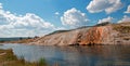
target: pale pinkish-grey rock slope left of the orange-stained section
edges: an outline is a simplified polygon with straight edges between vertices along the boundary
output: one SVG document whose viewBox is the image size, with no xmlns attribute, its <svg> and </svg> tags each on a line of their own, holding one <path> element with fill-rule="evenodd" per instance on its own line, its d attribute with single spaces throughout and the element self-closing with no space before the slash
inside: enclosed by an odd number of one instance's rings
<svg viewBox="0 0 130 66">
<path fill-rule="evenodd" d="M 32 44 L 39 45 L 73 45 L 79 44 L 80 37 L 84 37 L 89 28 L 76 29 L 67 32 L 54 34 L 38 38 Z"/>
</svg>

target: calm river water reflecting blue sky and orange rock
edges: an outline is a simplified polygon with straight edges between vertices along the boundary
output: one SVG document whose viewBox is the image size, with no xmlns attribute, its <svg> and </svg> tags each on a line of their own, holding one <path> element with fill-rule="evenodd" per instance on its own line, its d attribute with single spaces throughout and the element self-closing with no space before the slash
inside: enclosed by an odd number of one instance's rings
<svg viewBox="0 0 130 66">
<path fill-rule="evenodd" d="M 37 62 L 41 57 L 52 66 L 118 66 L 130 65 L 130 45 L 94 47 L 39 47 L 25 44 L 4 44 L 0 49 L 13 49 L 17 57 Z"/>
</svg>

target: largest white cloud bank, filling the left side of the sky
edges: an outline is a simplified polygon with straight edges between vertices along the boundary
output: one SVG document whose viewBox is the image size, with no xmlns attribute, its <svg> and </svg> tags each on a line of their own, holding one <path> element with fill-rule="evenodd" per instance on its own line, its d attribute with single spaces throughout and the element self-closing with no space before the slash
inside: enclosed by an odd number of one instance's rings
<svg viewBox="0 0 130 66">
<path fill-rule="evenodd" d="M 2 8 L 2 3 L 0 3 L 0 36 L 37 36 L 54 29 L 53 24 L 46 22 L 34 13 L 17 15 L 10 11 L 4 11 Z"/>
</svg>

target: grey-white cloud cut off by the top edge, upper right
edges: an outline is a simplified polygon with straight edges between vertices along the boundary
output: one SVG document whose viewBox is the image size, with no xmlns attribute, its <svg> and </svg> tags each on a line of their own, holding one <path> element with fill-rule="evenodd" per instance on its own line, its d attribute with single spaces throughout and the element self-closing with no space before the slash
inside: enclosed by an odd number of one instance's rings
<svg viewBox="0 0 130 66">
<path fill-rule="evenodd" d="M 121 9 L 122 3 L 120 0 L 92 0 L 87 10 L 90 13 L 99 13 L 105 11 L 107 14 L 116 12 Z"/>
</svg>

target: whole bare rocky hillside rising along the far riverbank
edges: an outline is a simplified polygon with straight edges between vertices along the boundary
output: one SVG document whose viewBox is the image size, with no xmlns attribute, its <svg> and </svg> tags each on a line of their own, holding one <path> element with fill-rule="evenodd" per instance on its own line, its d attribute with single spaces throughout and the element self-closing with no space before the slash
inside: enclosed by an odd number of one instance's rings
<svg viewBox="0 0 130 66">
<path fill-rule="evenodd" d="M 130 44 L 130 23 L 61 30 L 31 40 L 38 45 Z"/>
</svg>

